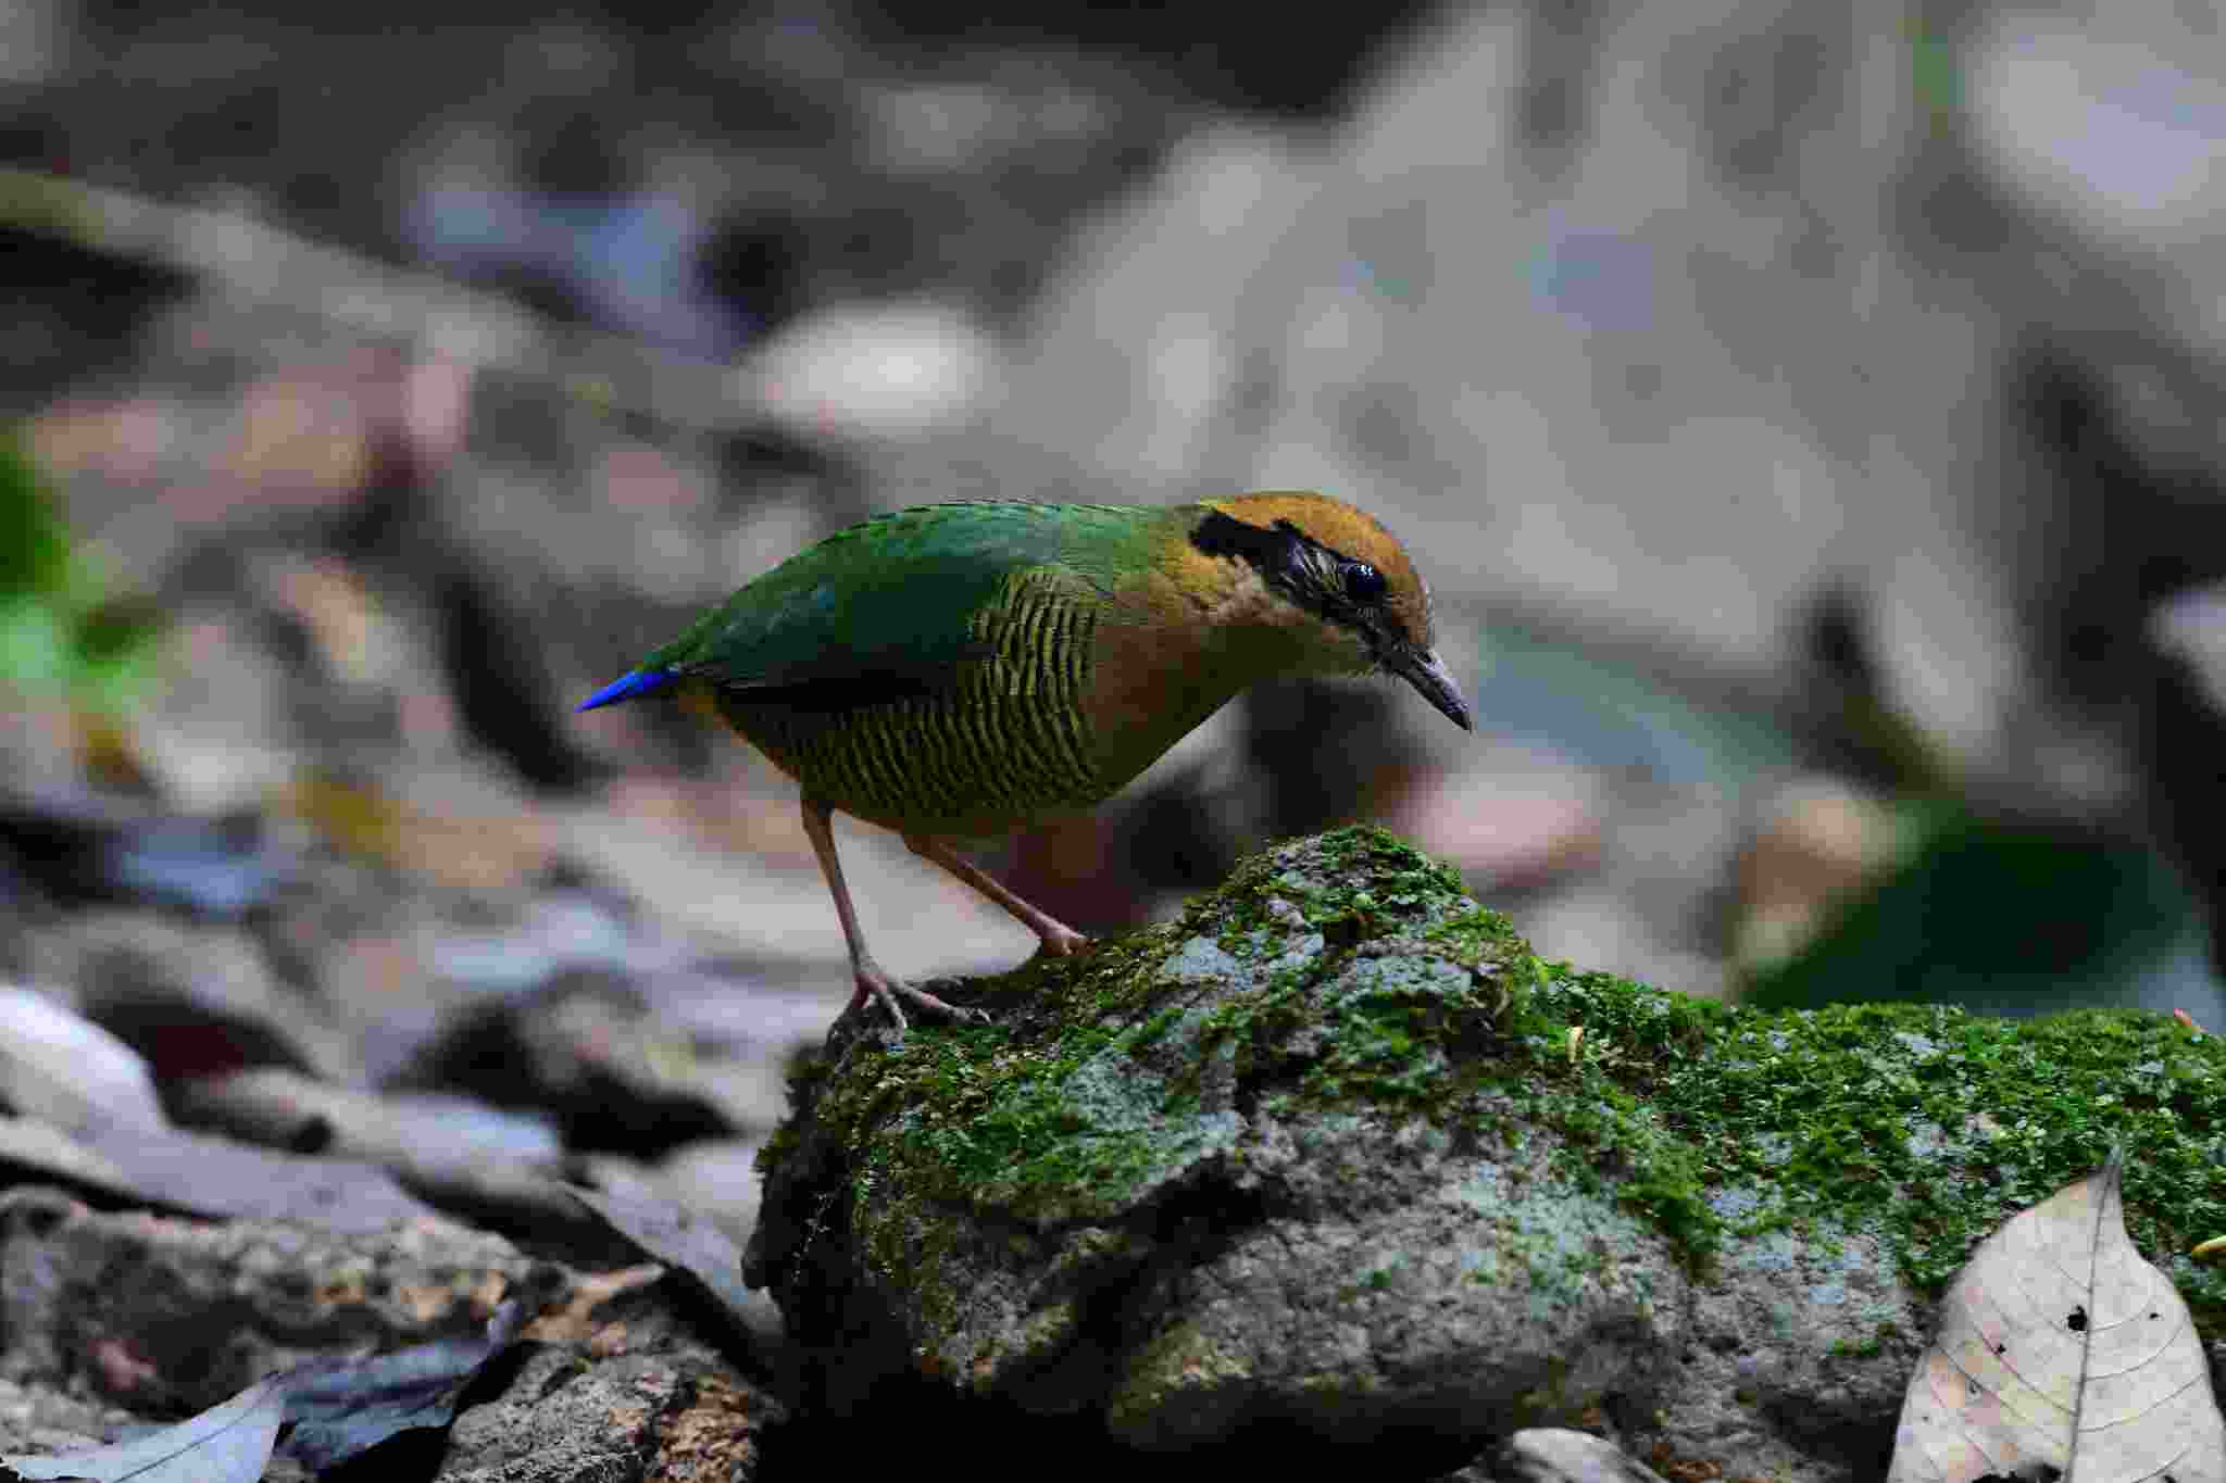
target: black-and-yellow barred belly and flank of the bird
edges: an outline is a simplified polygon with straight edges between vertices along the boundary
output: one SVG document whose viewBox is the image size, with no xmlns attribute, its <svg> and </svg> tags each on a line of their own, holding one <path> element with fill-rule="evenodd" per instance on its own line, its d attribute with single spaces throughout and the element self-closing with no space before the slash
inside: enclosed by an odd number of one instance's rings
<svg viewBox="0 0 2226 1483">
<path fill-rule="evenodd" d="M 728 723 L 806 796 L 917 834 L 997 834 L 1106 798 L 1082 711 L 1093 603 L 1046 574 L 1008 583 L 973 623 L 979 658 L 948 683 L 812 707 L 719 691 Z"/>
</svg>

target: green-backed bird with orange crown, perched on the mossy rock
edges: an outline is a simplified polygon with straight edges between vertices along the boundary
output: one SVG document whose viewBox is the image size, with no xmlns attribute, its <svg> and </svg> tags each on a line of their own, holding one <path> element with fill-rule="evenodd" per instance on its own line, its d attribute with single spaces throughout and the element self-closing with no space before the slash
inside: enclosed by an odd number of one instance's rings
<svg viewBox="0 0 2226 1483">
<path fill-rule="evenodd" d="M 866 949 L 833 814 L 893 829 L 1068 956 L 1080 932 L 957 854 L 1091 809 L 1271 676 L 1391 674 L 1465 731 L 1429 585 L 1373 516 L 1313 491 L 1189 505 L 915 505 L 826 536 L 579 703 L 695 694 L 801 792 L 855 992 L 979 1021 Z M 902 1001 L 902 1005 L 899 1005 Z"/>
</svg>

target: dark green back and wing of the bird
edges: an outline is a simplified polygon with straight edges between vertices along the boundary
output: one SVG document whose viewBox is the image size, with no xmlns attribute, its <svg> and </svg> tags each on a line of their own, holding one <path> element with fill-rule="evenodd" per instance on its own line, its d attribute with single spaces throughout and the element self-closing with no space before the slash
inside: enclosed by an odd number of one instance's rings
<svg viewBox="0 0 2226 1483">
<path fill-rule="evenodd" d="M 1062 567 L 1113 591 L 1175 511 L 1126 505 L 922 505 L 797 551 L 641 669 L 857 705 L 948 685 L 984 656 L 977 616 L 1006 578 Z"/>
</svg>

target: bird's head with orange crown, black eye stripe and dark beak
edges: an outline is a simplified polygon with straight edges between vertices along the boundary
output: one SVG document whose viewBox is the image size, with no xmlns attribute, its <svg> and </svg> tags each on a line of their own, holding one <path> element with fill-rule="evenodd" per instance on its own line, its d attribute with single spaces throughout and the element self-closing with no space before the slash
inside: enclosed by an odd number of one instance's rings
<svg viewBox="0 0 2226 1483">
<path fill-rule="evenodd" d="M 1429 585 L 1391 531 L 1327 494 L 1240 494 L 1206 500 L 1191 545 L 1260 578 L 1249 614 L 1300 647 L 1313 674 L 1389 671 L 1465 731 L 1469 703 L 1436 654 Z"/>
</svg>

